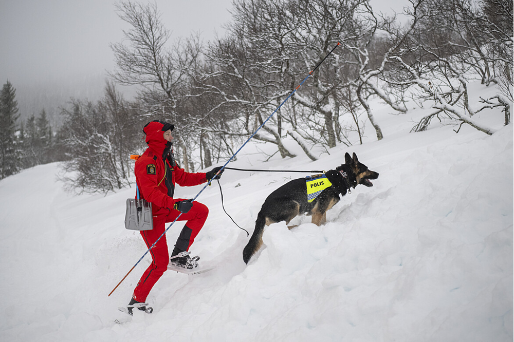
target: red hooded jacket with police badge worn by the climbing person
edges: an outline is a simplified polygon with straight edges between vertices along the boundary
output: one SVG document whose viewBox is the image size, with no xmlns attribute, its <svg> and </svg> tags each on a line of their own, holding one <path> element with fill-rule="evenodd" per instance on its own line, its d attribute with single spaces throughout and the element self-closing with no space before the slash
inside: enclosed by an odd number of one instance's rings
<svg viewBox="0 0 514 342">
<path fill-rule="evenodd" d="M 171 165 L 166 158 L 168 153 L 164 153 L 171 144 L 163 137 L 163 126 L 162 123 L 153 121 L 143 128 L 148 148 L 136 160 L 134 169 L 139 195 L 152 203 L 154 214 L 160 211 L 168 214 L 166 208 L 173 210 L 173 204 L 177 202 L 173 199 L 176 183 L 180 186 L 193 186 L 207 181 L 205 173 L 187 173 L 182 168 Z"/>
</svg>

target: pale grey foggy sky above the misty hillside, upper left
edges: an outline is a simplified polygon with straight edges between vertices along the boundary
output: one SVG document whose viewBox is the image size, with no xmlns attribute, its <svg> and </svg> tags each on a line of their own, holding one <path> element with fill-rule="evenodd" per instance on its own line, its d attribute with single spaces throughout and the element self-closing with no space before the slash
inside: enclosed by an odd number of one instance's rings
<svg viewBox="0 0 514 342">
<path fill-rule="evenodd" d="M 139 1 L 148 3 L 148 0 Z M 153 2 L 153 0 L 152 0 Z M 0 0 L 0 83 L 23 86 L 105 73 L 114 68 L 109 43 L 128 26 L 112 0 Z M 171 40 L 200 31 L 223 35 L 231 0 L 157 0 Z"/>
</svg>

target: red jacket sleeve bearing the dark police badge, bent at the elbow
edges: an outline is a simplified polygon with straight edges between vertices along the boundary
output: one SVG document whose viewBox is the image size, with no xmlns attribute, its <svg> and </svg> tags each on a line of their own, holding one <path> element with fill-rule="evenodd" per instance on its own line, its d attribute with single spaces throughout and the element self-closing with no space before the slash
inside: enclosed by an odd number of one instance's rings
<svg viewBox="0 0 514 342">
<path fill-rule="evenodd" d="M 152 166 L 155 167 L 155 172 L 152 172 Z M 136 161 L 134 172 L 136 174 L 139 192 L 145 200 L 160 207 L 173 208 L 173 204 L 175 204 L 176 200 L 168 196 L 158 187 L 159 182 L 164 177 L 163 165 L 151 158 L 140 157 Z"/>
</svg>

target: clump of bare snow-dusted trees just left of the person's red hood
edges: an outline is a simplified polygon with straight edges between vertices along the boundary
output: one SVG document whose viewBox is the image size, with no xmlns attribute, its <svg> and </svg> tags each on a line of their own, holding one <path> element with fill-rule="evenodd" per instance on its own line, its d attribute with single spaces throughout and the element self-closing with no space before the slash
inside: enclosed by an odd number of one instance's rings
<svg viewBox="0 0 514 342">
<path fill-rule="evenodd" d="M 61 164 L 65 187 L 79 193 L 107 193 L 129 186 L 131 154 L 142 151 L 137 113 L 112 84 L 97 104 L 72 100 L 63 108 L 59 134 L 68 159 Z"/>
</svg>

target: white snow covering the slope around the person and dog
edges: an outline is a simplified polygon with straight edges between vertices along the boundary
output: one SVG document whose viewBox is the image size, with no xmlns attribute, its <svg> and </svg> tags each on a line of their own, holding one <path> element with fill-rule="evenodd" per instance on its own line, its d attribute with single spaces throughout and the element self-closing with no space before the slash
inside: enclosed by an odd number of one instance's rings
<svg viewBox="0 0 514 342">
<path fill-rule="evenodd" d="M 512 124 L 483 111 L 479 120 L 499 129 L 491 137 L 467 126 L 409 134 L 428 110 L 384 109 L 376 115 L 382 141 L 369 126 L 365 144 L 316 162 L 242 153 L 230 166 L 329 169 L 355 152 L 380 177 L 343 197 L 324 226 L 309 217 L 290 231 L 269 226 L 248 265 L 246 233 L 223 212 L 213 183 L 198 198 L 210 214 L 191 250 L 216 269 L 164 273 L 148 298 L 152 315 L 117 311 L 148 255 L 107 297 L 146 251 L 123 227 L 134 189 L 71 196 L 56 181 L 57 164 L 2 180 L 0 340 L 512 341 Z M 227 170 L 225 207 L 251 234 L 266 196 L 297 177 Z M 192 198 L 200 189 L 177 193 Z M 168 232 L 170 245 L 182 224 Z"/>
</svg>

